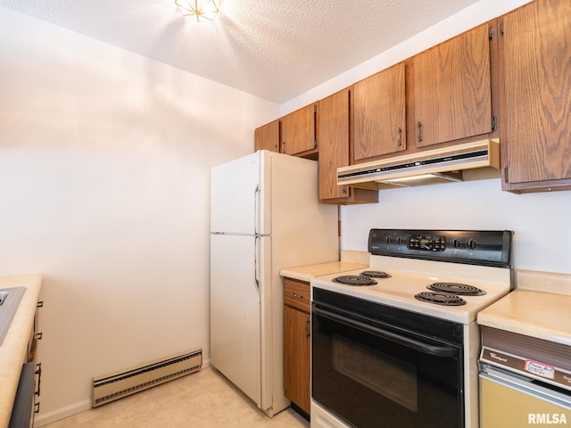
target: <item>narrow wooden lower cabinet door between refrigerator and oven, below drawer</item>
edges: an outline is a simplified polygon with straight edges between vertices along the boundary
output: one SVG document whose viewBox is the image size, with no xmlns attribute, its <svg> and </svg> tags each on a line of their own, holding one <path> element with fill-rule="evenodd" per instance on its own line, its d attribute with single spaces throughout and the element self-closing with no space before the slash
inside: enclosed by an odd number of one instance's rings
<svg viewBox="0 0 571 428">
<path fill-rule="evenodd" d="M 284 389 L 305 413 L 310 414 L 310 316 L 284 307 Z"/>
</svg>

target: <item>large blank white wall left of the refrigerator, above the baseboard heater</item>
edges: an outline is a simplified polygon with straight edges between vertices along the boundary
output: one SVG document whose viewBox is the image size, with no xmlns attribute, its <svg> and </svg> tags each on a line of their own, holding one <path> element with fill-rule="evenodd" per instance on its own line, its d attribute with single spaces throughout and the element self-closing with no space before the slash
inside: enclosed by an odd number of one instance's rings
<svg viewBox="0 0 571 428">
<path fill-rule="evenodd" d="M 40 424 L 209 358 L 209 174 L 279 106 L 0 8 L 0 275 L 45 274 Z"/>
</svg>

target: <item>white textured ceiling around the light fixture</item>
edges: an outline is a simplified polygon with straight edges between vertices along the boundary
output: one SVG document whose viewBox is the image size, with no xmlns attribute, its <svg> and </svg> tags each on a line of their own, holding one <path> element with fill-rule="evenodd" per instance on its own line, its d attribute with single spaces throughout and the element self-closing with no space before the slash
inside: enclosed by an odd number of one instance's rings
<svg viewBox="0 0 571 428">
<path fill-rule="evenodd" d="M 477 0 L 220 0 L 216 21 L 174 0 L 0 0 L 0 6 L 285 103 Z"/>
</svg>

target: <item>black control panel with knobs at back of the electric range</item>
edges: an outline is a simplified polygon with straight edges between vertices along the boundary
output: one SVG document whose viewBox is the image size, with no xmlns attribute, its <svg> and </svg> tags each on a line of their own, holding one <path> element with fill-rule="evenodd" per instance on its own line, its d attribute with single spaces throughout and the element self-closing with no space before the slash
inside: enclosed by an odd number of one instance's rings
<svg viewBox="0 0 571 428">
<path fill-rule="evenodd" d="M 371 229 L 368 251 L 374 255 L 508 268 L 512 235 L 508 230 Z"/>
</svg>

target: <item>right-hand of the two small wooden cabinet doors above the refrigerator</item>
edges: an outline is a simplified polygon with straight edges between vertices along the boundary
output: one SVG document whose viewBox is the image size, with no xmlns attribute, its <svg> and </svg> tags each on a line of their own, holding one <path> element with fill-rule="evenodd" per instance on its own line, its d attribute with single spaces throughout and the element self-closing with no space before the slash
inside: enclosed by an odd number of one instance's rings
<svg viewBox="0 0 571 428">
<path fill-rule="evenodd" d="M 310 104 L 281 118 L 282 149 L 285 154 L 299 154 L 317 147 L 315 116 L 317 106 Z"/>
</svg>

